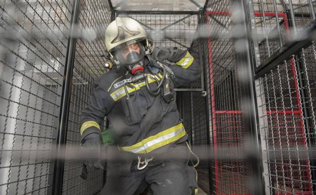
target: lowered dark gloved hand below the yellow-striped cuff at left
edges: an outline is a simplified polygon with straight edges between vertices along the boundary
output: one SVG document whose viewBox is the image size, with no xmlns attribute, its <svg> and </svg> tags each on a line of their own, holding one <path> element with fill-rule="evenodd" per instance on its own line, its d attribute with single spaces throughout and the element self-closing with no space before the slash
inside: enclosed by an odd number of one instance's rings
<svg viewBox="0 0 316 195">
<path fill-rule="evenodd" d="M 95 169 L 104 169 L 101 163 L 102 146 L 102 137 L 98 133 L 88 134 L 82 139 L 80 154 L 86 165 Z"/>
</svg>

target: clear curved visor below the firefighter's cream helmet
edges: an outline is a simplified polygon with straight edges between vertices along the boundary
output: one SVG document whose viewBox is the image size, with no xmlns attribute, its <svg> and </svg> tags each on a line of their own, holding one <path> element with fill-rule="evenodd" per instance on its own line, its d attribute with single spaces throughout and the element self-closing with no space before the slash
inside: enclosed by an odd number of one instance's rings
<svg viewBox="0 0 316 195">
<path fill-rule="evenodd" d="M 122 64 L 132 64 L 142 60 L 145 49 L 142 44 L 133 43 L 115 51 L 116 57 Z"/>
</svg>

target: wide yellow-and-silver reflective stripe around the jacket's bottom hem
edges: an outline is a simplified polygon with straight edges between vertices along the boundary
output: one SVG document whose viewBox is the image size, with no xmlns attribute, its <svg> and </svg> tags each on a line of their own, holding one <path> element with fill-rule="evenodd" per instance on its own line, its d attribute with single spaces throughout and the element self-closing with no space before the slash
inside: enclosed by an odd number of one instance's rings
<svg viewBox="0 0 316 195">
<path fill-rule="evenodd" d="M 121 149 L 133 153 L 148 153 L 161 146 L 177 141 L 185 135 L 186 131 L 184 130 L 182 123 L 180 123 L 179 125 L 150 136 L 134 145 L 121 147 Z"/>
</svg>

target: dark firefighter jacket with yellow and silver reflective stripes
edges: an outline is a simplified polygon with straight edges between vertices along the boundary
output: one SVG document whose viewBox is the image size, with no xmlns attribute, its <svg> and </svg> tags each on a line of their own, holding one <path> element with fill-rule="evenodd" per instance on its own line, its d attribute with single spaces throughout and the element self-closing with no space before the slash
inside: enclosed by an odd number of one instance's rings
<svg viewBox="0 0 316 195">
<path fill-rule="evenodd" d="M 175 65 L 169 68 L 175 76 L 174 87 L 188 85 L 200 76 L 200 65 L 188 51 L 179 49 L 172 58 L 170 61 Z M 124 151 L 159 154 L 187 140 L 175 100 L 167 103 L 161 94 L 151 96 L 144 81 L 131 84 L 133 88 L 126 86 L 130 95 L 127 99 L 120 82 L 130 76 L 111 69 L 100 77 L 89 105 L 81 113 L 82 137 L 100 131 L 99 124 L 107 116 L 109 129 L 114 131 L 118 147 Z M 150 77 L 149 84 L 151 88 L 157 86 Z M 174 91 L 173 95 L 175 97 Z"/>
</svg>

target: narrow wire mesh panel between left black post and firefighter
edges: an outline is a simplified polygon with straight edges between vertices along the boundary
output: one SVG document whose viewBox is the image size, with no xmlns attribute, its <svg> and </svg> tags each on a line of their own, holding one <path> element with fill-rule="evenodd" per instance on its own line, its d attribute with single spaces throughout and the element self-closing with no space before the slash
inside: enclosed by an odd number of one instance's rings
<svg viewBox="0 0 316 195">
<path fill-rule="evenodd" d="M 106 59 L 101 56 L 106 51 L 104 32 L 110 22 L 111 7 L 108 1 L 81 2 L 66 153 L 71 154 L 80 148 L 80 113 L 88 105 L 94 82 L 106 72 Z M 101 125 L 103 130 L 105 125 Z M 97 194 L 102 189 L 105 182 L 103 170 L 88 170 L 88 179 L 83 180 L 80 177 L 82 165 L 78 161 L 65 162 L 63 194 Z"/>
</svg>

